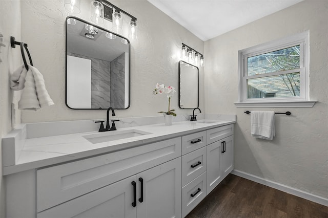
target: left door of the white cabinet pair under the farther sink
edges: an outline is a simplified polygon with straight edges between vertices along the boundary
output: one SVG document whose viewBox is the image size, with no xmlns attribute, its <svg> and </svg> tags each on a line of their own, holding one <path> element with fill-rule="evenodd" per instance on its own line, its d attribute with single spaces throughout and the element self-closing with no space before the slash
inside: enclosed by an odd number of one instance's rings
<svg viewBox="0 0 328 218">
<path fill-rule="evenodd" d="M 216 141 L 207 146 L 207 194 L 222 181 L 220 168 L 222 149 L 221 141 Z"/>
</svg>

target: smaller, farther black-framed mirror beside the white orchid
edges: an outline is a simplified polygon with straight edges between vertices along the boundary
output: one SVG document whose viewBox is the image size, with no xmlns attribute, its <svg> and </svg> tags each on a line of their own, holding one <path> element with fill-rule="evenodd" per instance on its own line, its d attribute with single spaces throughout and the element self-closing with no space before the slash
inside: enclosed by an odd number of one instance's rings
<svg viewBox="0 0 328 218">
<path fill-rule="evenodd" d="M 199 106 L 199 69 L 190 63 L 179 61 L 179 107 Z"/>
</svg>

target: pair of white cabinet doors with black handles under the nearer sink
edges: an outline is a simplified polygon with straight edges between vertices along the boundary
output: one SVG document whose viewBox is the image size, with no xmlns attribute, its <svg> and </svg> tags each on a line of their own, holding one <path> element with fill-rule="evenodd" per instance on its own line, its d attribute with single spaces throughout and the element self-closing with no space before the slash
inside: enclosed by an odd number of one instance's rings
<svg viewBox="0 0 328 218">
<path fill-rule="evenodd" d="M 180 158 L 39 212 L 38 218 L 180 217 Z"/>
</svg>

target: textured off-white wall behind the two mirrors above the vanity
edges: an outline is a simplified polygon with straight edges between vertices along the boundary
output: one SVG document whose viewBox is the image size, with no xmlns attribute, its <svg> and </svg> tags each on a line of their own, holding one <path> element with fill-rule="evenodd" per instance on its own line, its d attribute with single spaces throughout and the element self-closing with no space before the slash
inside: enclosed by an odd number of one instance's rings
<svg viewBox="0 0 328 218">
<path fill-rule="evenodd" d="M 131 41 L 131 106 L 117 110 L 116 116 L 156 116 L 165 110 L 165 96 L 154 96 L 155 83 L 178 88 L 178 56 L 181 42 L 203 51 L 204 42 L 181 27 L 146 0 L 110 1 L 137 17 L 138 39 Z M 81 1 L 77 16 L 90 21 L 90 2 Z M 22 122 L 101 119 L 103 110 L 70 110 L 65 105 L 65 18 L 64 1 L 22 1 L 22 38 L 28 43 L 33 63 L 43 73 L 46 88 L 55 105 L 39 112 L 24 111 Z M 125 20 L 130 21 L 130 20 Z M 110 29 L 105 21 L 103 27 Z M 203 71 L 200 70 L 200 84 Z M 203 86 L 200 87 L 203 90 Z M 200 93 L 203 96 L 203 91 Z M 201 97 L 200 108 L 204 107 Z M 178 108 L 178 96 L 172 100 L 178 114 L 192 113 Z"/>
</svg>

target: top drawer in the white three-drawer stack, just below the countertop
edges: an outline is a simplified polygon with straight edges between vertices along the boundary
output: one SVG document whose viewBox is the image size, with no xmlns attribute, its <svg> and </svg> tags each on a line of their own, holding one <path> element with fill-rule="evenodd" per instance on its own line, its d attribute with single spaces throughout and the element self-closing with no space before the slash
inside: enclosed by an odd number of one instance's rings
<svg viewBox="0 0 328 218">
<path fill-rule="evenodd" d="M 206 131 L 182 136 L 182 155 L 197 150 L 206 145 Z"/>
</svg>

